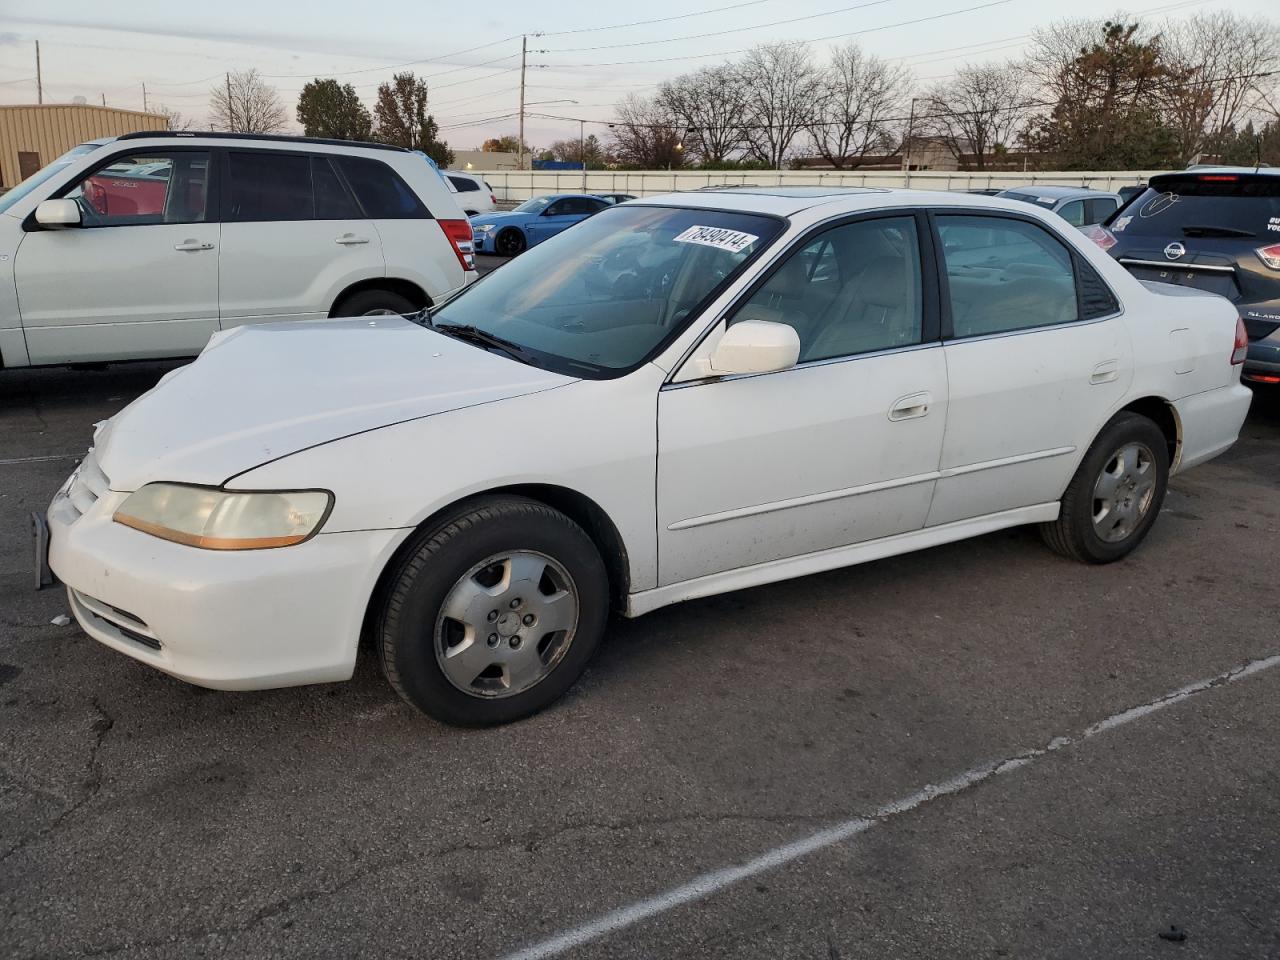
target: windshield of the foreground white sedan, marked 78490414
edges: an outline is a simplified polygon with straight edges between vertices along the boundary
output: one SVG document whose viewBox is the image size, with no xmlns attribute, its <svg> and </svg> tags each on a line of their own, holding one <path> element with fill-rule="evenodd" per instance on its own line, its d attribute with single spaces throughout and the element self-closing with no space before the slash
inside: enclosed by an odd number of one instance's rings
<svg viewBox="0 0 1280 960">
<path fill-rule="evenodd" d="M 751 214 L 609 207 L 521 253 L 431 319 L 475 326 L 553 370 L 616 376 L 673 338 L 782 227 Z"/>
</svg>

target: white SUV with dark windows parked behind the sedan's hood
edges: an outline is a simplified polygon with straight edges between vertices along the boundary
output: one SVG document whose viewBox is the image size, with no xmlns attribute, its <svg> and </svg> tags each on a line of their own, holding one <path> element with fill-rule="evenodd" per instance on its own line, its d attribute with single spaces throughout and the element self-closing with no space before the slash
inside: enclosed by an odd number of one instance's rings
<svg viewBox="0 0 1280 960">
<path fill-rule="evenodd" d="M 129 133 L 0 214 L 6 367 L 195 356 L 216 330 L 412 312 L 476 279 L 448 184 L 374 143 Z"/>
</svg>

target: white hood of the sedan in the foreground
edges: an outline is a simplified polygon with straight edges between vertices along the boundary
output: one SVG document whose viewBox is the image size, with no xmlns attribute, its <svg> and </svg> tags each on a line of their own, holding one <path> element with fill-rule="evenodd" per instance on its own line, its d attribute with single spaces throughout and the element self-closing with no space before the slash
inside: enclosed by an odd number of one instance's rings
<svg viewBox="0 0 1280 960">
<path fill-rule="evenodd" d="M 102 425 L 95 451 L 114 490 L 218 485 L 342 436 L 568 383 L 398 316 L 239 326 Z"/>
</svg>

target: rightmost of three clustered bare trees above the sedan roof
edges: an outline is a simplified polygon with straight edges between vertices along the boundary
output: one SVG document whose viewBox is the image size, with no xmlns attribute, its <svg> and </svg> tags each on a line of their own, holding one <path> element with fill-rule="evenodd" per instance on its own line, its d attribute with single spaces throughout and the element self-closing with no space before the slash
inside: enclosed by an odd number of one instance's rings
<svg viewBox="0 0 1280 960">
<path fill-rule="evenodd" d="M 833 47 L 820 74 L 820 92 L 808 124 L 818 155 L 837 170 L 858 166 L 873 154 L 892 152 L 911 72 L 863 54 L 856 44 Z"/>
</svg>

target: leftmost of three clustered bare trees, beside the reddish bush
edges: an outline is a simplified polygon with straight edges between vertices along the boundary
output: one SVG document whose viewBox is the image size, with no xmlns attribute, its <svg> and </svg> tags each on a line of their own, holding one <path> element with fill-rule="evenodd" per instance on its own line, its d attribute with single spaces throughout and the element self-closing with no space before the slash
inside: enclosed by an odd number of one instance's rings
<svg viewBox="0 0 1280 960">
<path fill-rule="evenodd" d="M 701 163 L 719 163 L 742 150 L 748 105 L 733 64 L 704 67 L 658 87 L 657 100 L 686 129 L 687 146 Z"/>
</svg>

